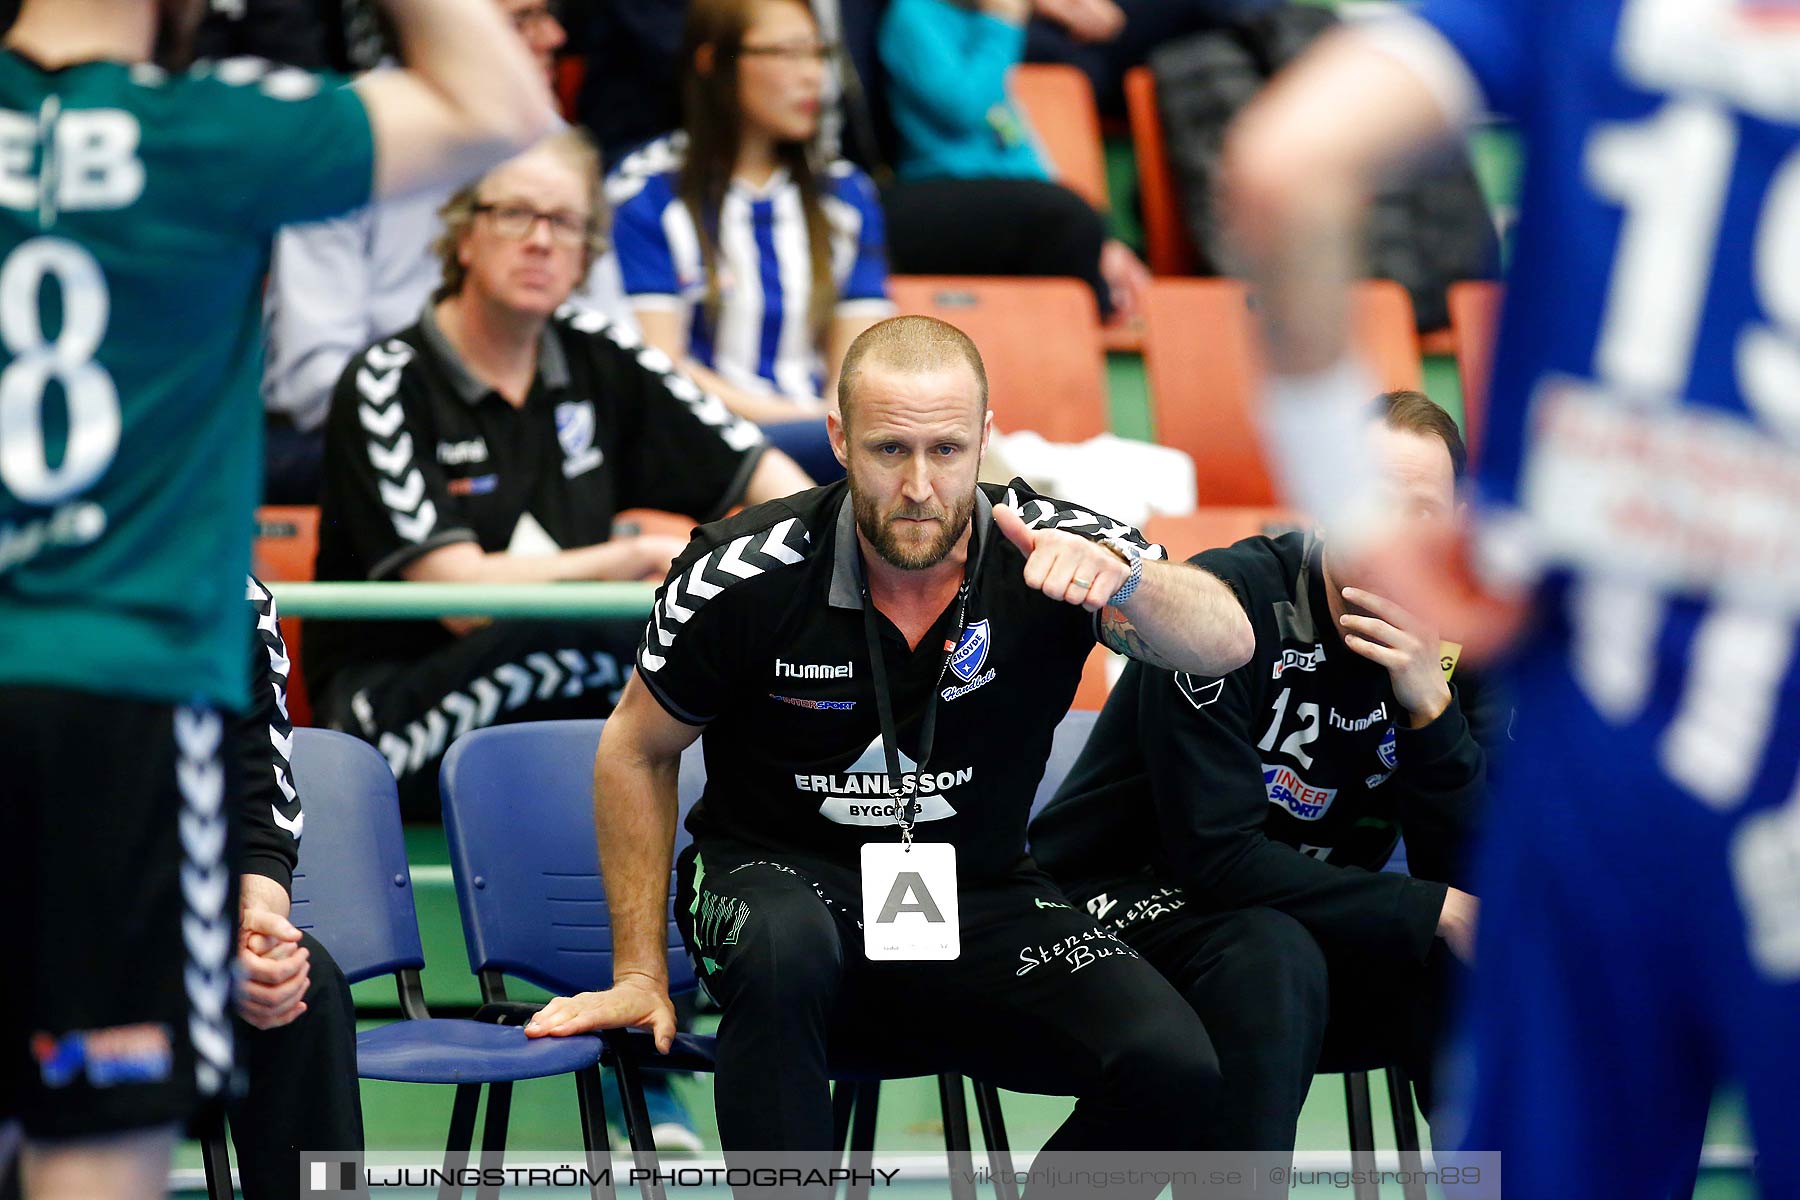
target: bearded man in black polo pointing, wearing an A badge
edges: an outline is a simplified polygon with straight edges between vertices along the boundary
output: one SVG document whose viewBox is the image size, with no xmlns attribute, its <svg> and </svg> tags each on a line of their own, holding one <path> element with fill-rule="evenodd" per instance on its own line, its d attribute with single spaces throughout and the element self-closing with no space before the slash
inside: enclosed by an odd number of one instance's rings
<svg viewBox="0 0 1800 1200">
<path fill-rule="evenodd" d="M 1127 525 L 977 486 L 986 378 L 952 326 L 873 326 L 839 405 L 848 480 L 702 527 L 661 590 L 596 765 L 614 986 L 526 1033 L 670 1043 L 675 772 L 704 729 L 677 914 L 724 1007 L 727 1153 L 828 1150 L 826 1065 L 871 1051 L 1078 1096 L 1046 1153 L 1190 1148 L 1219 1083 L 1197 1018 L 1037 871 L 1024 824 L 1096 637 L 1222 675 L 1249 621 Z"/>
</svg>

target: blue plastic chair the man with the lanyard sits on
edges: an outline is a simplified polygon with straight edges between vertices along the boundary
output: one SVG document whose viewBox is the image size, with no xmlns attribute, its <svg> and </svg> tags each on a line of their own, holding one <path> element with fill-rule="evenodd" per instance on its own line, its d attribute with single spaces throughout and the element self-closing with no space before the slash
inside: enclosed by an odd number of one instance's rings
<svg viewBox="0 0 1800 1200">
<path fill-rule="evenodd" d="M 508 1011 L 504 977 L 513 975 L 558 995 L 612 984 L 612 918 L 599 878 L 594 844 L 592 768 L 605 721 L 526 721 L 497 725 L 459 738 L 445 756 L 441 793 L 450 865 L 463 907 L 470 970 L 481 981 L 490 1011 L 522 1016 L 535 1006 Z M 680 815 L 700 799 L 706 765 L 700 745 L 682 754 Z M 677 824 L 677 853 L 688 835 Z M 673 918 L 670 885 L 668 964 L 670 991 L 698 988 L 693 964 Z M 614 1067 L 625 1103 L 625 1128 L 641 1166 L 655 1162 L 650 1119 L 644 1112 L 643 1070 L 704 1070 L 716 1067 L 716 1040 L 677 1034 L 670 1054 L 657 1054 L 648 1033 L 614 1029 L 603 1034 L 603 1061 Z M 882 1078 L 911 1078 L 896 1067 L 884 1074 L 835 1074 L 837 1144 L 846 1137 L 866 1153 L 875 1135 L 875 1088 Z M 846 1083 L 850 1087 L 846 1087 Z M 968 1110 L 961 1076 L 940 1076 L 945 1148 L 954 1160 L 970 1155 Z M 977 1099 L 992 1088 L 976 1083 Z M 851 1115 L 855 1103 L 855 1130 Z M 997 1097 L 992 1103 L 999 1110 Z M 995 1177 L 1001 1177 L 995 1171 Z M 1010 1171 L 1004 1175 L 1010 1180 Z M 967 1186 L 967 1175 L 959 1191 Z M 644 1195 L 655 1195 L 653 1182 Z M 1004 1196 L 1006 1193 L 1003 1193 Z"/>
</svg>

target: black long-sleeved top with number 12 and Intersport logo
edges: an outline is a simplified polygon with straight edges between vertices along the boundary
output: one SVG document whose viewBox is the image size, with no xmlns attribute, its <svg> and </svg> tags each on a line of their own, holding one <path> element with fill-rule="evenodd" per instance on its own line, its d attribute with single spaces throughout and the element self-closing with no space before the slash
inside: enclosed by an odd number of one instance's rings
<svg viewBox="0 0 1800 1200">
<path fill-rule="evenodd" d="M 1472 833 L 1485 754 L 1467 669 L 1411 729 L 1386 667 L 1332 624 L 1321 543 L 1247 538 L 1193 561 L 1224 579 L 1256 631 L 1220 678 L 1125 667 L 1031 853 L 1066 887 L 1148 869 L 1202 909 L 1271 905 L 1314 934 L 1422 959 Z M 1373 874 L 1406 835 L 1413 876 Z M 1427 882 L 1429 880 L 1429 882 Z"/>
</svg>

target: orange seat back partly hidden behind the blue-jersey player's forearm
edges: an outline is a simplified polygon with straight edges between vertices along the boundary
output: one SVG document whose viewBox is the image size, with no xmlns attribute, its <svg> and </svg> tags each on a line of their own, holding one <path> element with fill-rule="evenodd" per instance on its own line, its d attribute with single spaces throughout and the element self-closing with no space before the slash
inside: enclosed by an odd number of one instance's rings
<svg viewBox="0 0 1800 1200">
<path fill-rule="evenodd" d="M 1382 390 L 1422 383 L 1411 313 L 1397 282 L 1355 286 L 1354 336 Z M 1249 290 L 1235 279 L 1159 279 L 1145 317 L 1156 439 L 1193 455 L 1202 506 L 1273 506 L 1274 484 L 1255 423 L 1262 351 Z"/>
</svg>

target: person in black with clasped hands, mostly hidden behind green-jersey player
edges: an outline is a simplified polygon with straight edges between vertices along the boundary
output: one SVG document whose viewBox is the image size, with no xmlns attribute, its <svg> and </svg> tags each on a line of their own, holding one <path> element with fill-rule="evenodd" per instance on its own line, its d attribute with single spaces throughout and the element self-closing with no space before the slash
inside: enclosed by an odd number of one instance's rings
<svg viewBox="0 0 1800 1200">
<path fill-rule="evenodd" d="M 356 1011 L 344 972 L 293 927 L 293 867 L 304 813 L 288 748 L 288 648 L 275 599 L 257 579 L 247 597 L 250 707 L 232 725 L 238 766 L 238 1045 L 248 1087 L 230 1105 L 230 1135 L 247 1200 L 301 1195 L 301 1151 L 362 1150 Z"/>
</svg>

